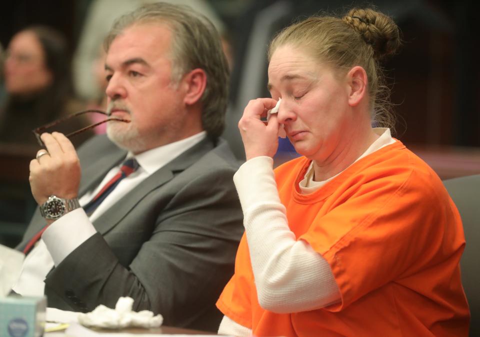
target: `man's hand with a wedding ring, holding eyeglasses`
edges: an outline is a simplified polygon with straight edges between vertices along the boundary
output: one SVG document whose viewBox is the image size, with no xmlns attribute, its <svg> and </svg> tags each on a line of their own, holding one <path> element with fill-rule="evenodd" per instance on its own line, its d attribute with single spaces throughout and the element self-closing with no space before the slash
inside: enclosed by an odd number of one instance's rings
<svg viewBox="0 0 480 337">
<path fill-rule="evenodd" d="M 48 196 L 73 199 L 78 196 L 80 163 L 75 148 L 63 134 L 43 133 L 40 136 L 48 154 L 30 161 L 30 188 L 38 205 Z M 44 151 L 44 150 L 40 150 Z"/>
</svg>

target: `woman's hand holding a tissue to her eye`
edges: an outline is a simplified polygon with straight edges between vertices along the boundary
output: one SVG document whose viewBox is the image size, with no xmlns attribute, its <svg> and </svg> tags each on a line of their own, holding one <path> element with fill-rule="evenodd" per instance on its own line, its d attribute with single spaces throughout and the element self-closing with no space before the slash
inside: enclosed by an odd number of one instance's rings
<svg viewBox="0 0 480 337">
<path fill-rule="evenodd" d="M 267 124 L 260 120 L 260 117 L 266 117 L 267 111 L 272 109 L 275 104 L 276 101 L 272 98 L 257 98 L 249 101 L 243 110 L 238 128 L 245 148 L 246 160 L 275 155 L 278 148 L 278 128 L 280 127 L 276 114 L 270 116 Z"/>
</svg>

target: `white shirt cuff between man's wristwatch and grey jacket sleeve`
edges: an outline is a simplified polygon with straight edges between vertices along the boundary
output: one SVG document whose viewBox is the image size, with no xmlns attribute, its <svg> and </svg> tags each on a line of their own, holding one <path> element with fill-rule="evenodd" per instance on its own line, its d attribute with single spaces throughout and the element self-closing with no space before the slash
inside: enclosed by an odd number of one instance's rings
<svg viewBox="0 0 480 337">
<path fill-rule="evenodd" d="M 52 222 L 41 238 L 56 267 L 95 233 L 83 208 L 77 208 Z"/>
</svg>

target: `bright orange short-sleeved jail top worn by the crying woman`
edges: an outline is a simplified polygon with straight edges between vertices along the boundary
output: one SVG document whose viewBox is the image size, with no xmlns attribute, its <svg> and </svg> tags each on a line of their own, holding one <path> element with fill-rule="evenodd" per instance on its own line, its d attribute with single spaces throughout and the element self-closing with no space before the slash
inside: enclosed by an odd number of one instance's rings
<svg viewBox="0 0 480 337">
<path fill-rule="evenodd" d="M 300 157 L 278 167 L 278 193 L 297 240 L 330 265 L 341 302 L 263 310 L 244 235 L 218 309 L 255 336 L 467 336 L 461 220 L 433 170 L 397 141 L 302 195 L 308 165 Z"/>
</svg>

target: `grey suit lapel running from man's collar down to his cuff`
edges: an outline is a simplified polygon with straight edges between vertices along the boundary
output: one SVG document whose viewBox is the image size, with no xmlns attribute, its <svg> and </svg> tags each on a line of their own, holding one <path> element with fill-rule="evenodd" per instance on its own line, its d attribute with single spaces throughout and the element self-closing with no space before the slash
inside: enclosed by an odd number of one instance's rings
<svg viewBox="0 0 480 337">
<path fill-rule="evenodd" d="M 213 148 L 210 140 L 204 139 L 192 148 L 180 154 L 171 162 L 151 174 L 112 207 L 100 215 L 93 226 L 100 234 L 105 234 L 116 226 L 121 219 L 135 207 L 148 193 L 170 181 Z M 121 160 L 121 158 L 120 158 Z"/>
</svg>

